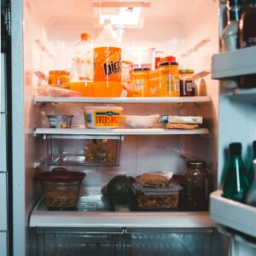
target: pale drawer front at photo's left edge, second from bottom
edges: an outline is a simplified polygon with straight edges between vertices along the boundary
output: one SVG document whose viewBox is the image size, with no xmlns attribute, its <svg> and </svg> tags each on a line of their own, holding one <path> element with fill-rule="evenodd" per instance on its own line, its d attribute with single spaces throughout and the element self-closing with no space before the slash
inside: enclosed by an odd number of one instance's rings
<svg viewBox="0 0 256 256">
<path fill-rule="evenodd" d="M 7 230 L 7 174 L 0 172 L 0 231 Z"/>
</svg>

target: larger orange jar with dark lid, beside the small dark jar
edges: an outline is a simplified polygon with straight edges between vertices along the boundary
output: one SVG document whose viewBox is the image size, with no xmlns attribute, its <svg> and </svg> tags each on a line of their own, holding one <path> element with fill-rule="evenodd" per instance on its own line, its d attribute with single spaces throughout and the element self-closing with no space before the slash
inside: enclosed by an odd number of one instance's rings
<svg viewBox="0 0 256 256">
<path fill-rule="evenodd" d="M 160 63 L 160 96 L 180 96 L 178 63 Z"/>
</svg>

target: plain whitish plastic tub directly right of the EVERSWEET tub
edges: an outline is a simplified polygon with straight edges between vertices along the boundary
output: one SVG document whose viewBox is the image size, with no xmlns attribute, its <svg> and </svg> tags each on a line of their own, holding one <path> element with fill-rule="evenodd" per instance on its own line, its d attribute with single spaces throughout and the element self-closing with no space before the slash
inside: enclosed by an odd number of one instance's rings
<svg viewBox="0 0 256 256">
<path fill-rule="evenodd" d="M 123 116 L 127 128 L 152 128 L 160 125 L 160 115 L 125 115 Z"/>
</svg>

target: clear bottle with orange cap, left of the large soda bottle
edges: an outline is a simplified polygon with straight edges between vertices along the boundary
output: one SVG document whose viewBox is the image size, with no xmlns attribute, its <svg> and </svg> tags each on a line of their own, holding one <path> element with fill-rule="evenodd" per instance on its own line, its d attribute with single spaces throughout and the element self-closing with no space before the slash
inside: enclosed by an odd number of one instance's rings
<svg viewBox="0 0 256 256">
<path fill-rule="evenodd" d="M 89 33 L 81 34 L 79 42 L 73 45 L 73 68 L 71 80 L 92 81 L 93 79 L 93 41 Z"/>
</svg>

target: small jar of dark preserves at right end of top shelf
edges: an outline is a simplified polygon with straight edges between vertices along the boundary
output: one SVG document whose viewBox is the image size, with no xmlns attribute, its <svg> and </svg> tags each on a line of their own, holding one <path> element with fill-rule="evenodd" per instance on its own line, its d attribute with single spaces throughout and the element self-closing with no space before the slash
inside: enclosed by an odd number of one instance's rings
<svg viewBox="0 0 256 256">
<path fill-rule="evenodd" d="M 193 78 L 193 74 L 193 69 L 180 69 L 180 96 L 195 96 L 195 81 Z"/>
</svg>

